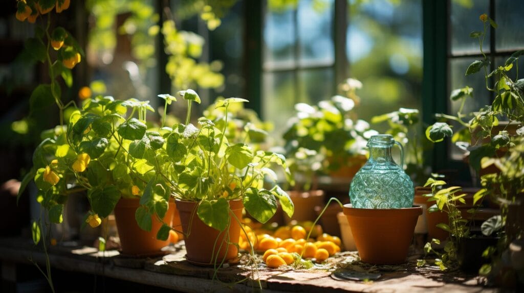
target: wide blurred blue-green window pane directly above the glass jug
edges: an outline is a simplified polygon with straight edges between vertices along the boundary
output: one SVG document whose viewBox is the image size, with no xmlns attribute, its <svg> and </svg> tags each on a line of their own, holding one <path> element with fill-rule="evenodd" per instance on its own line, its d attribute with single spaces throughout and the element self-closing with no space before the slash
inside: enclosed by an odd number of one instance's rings
<svg viewBox="0 0 524 293">
<path fill-rule="evenodd" d="M 358 118 L 369 121 L 400 107 L 420 109 L 421 1 L 376 0 L 349 5 L 346 50 L 350 73 L 363 83 L 357 91 L 361 97 Z M 387 125 L 373 127 L 385 131 Z"/>
</svg>

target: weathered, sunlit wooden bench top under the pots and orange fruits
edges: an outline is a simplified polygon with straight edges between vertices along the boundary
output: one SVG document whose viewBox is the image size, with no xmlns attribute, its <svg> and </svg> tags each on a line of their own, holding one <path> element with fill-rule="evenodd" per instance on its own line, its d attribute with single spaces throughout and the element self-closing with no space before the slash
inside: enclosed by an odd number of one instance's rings
<svg viewBox="0 0 524 293">
<path fill-rule="evenodd" d="M 217 269 L 195 266 L 184 259 L 183 241 L 169 247 L 169 254 L 150 258 L 119 255 L 117 251 L 99 252 L 92 247 L 51 247 L 51 266 L 64 271 L 104 275 L 184 292 L 209 291 L 301 291 L 301 292 L 427 292 L 433 291 L 496 291 L 480 285 L 482 278 L 464 275 L 458 271 L 441 272 L 436 266 L 416 266 L 417 256 L 409 257 L 398 266 L 371 266 L 356 261 L 356 252 L 339 253 L 324 266 L 315 269 L 269 269 L 259 264 L 258 272 L 245 268 L 249 257 L 243 255 L 239 265 Z M 27 264 L 29 256 L 37 263 L 45 263 L 45 254 L 33 247 L 31 240 L 0 239 L 0 261 L 8 264 Z M 420 257 L 420 256 L 419 256 Z M 335 269 L 380 273 L 374 281 L 335 280 Z M 8 274 L 4 272 L 3 276 Z M 214 278 L 214 279 L 213 279 Z"/>
</svg>

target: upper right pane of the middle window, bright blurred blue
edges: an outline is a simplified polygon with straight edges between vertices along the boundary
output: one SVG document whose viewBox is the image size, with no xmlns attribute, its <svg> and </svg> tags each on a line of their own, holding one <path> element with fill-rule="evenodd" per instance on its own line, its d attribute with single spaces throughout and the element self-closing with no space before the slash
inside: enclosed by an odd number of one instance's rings
<svg viewBox="0 0 524 293">
<path fill-rule="evenodd" d="M 300 64 L 332 64 L 333 0 L 304 0 L 298 7 Z"/>
</svg>

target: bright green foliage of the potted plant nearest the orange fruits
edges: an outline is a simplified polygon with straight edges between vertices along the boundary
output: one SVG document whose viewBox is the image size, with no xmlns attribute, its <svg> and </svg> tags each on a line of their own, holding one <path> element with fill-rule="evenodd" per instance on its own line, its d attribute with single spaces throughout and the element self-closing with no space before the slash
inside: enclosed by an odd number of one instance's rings
<svg viewBox="0 0 524 293">
<path fill-rule="evenodd" d="M 152 214 L 156 190 L 169 191 L 180 200 L 198 202 L 199 218 L 221 231 L 228 225 L 228 200 L 242 199 L 246 211 L 260 222 L 266 222 L 275 214 L 277 199 L 283 210 L 292 215 L 293 204 L 278 185 L 270 190 L 264 188 L 266 176 L 277 180 L 270 169 L 272 165 L 281 166 L 289 173 L 285 157 L 270 151 L 255 151 L 245 143 L 230 142 L 227 138 L 228 109 L 232 104 L 247 100 L 218 100 L 214 107 L 224 108 L 222 128 L 205 117 L 198 119 L 197 127 L 190 123 L 191 103 L 200 103 L 200 97 L 191 89 L 179 94 L 188 103 L 185 123 L 161 128 L 159 134 L 165 143 L 155 151 L 147 139 L 139 142 L 144 145 L 144 152 L 137 156 L 145 157 L 150 151 L 153 162 L 150 178 L 138 175 L 147 182 L 140 200 L 141 208 Z M 166 103 L 168 99 L 175 99 L 161 96 Z"/>
</svg>

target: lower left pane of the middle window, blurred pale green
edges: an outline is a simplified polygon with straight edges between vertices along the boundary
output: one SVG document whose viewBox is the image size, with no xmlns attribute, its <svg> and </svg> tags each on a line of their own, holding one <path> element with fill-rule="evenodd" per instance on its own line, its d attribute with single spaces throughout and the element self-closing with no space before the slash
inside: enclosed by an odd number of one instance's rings
<svg viewBox="0 0 524 293">
<path fill-rule="evenodd" d="M 284 130 L 283 126 L 294 114 L 295 88 L 292 72 L 264 73 L 262 97 L 264 120 L 275 125 L 276 136 Z"/>
</svg>

